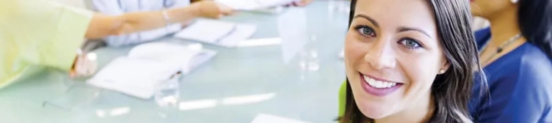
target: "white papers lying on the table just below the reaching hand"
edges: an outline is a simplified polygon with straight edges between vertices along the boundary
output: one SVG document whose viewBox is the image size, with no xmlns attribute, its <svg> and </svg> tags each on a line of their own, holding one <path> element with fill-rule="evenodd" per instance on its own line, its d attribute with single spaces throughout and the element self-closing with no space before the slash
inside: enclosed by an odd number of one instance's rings
<svg viewBox="0 0 552 123">
<path fill-rule="evenodd" d="M 251 24 L 200 19 L 174 34 L 173 37 L 216 46 L 235 47 L 240 41 L 251 37 L 256 28 Z"/>
</svg>

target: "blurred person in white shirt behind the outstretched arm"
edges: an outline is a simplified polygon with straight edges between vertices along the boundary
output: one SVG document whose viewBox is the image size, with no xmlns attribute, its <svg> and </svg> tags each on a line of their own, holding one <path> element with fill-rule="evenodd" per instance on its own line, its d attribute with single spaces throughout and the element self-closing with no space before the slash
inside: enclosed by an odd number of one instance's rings
<svg viewBox="0 0 552 123">
<path fill-rule="evenodd" d="M 162 11 L 170 8 L 184 8 L 190 6 L 189 0 L 91 0 L 93 8 L 99 13 L 106 15 L 122 15 L 124 13 L 132 13 L 139 11 Z M 231 8 L 218 6 L 223 14 L 230 14 Z M 194 13 L 183 13 L 192 15 Z M 177 22 L 165 27 L 156 28 L 154 30 L 146 30 L 131 34 L 123 34 L 117 36 L 109 36 L 104 41 L 109 46 L 126 46 L 130 44 L 139 44 L 145 41 L 151 41 L 173 34 L 180 31 L 184 26 L 188 25 L 191 20 L 185 22 Z"/>
</svg>

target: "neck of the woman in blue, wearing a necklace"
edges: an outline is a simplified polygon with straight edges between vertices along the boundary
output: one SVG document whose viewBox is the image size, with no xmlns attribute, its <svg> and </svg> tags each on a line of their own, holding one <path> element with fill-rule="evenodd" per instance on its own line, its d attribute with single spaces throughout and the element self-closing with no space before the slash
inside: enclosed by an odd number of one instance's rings
<svg viewBox="0 0 552 123">
<path fill-rule="evenodd" d="M 500 46 L 521 32 L 517 24 L 517 10 L 517 6 L 512 5 L 500 13 L 493 13 L 486 17 L 490 22 L 492 36 L 488 45 Z"/>
</svg>

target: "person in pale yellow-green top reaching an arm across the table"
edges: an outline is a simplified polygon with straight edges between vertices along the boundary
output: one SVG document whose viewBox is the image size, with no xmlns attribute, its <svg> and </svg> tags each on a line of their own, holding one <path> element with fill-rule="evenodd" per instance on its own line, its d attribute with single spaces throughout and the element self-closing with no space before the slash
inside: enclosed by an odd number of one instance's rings
<svg viewBox="0 0 552 123">
<path fill-rule="evenodd" d="M 219 18 L 219 4 L 201 1 L 188 7 L 105 15 L 52 1 L 0 1 L 0 88 L 28 77 L 36 65 L 76 72 L 87 67 L 79 55 L 84 39 L 154 30 L 194 18 Z M 85 64 L 82 65 L 81 64 Z M 75 66 L 78 65 L 78 66 Z"/>
</svg>

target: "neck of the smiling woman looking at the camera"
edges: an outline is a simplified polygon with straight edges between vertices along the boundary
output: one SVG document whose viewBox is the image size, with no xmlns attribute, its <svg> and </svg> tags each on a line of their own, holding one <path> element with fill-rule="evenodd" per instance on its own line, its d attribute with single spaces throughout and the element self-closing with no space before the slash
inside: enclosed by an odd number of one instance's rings
<svg viewBox="0 0 552 123">
<path fill-rule="evenodd" d="M 407 109 L 398 112 L 395 115 L 384 117 L 382 119 L 374 119 L 375 123 L 403 123 L 403 122 L 428 122 L 433 116 L 435 103 L 430 93 L 420 99 L 414 105 L 406 105 Z"/>
</svg>

